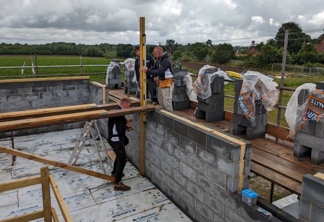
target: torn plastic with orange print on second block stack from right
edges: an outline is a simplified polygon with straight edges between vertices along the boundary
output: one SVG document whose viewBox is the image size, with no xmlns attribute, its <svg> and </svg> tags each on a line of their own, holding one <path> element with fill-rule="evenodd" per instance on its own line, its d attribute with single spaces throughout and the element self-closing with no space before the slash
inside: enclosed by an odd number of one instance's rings
<svg viewBox="0 0 324 222">
<path fill-rule="evenodd" d="M 242 79 L 237 104 L 252 123 L 255 120 L 255 100 L 261 100 L 266 110 L 272 110 L 278 100 L 278 84 L 257 71 L 247 71 Z"/>
</svg>

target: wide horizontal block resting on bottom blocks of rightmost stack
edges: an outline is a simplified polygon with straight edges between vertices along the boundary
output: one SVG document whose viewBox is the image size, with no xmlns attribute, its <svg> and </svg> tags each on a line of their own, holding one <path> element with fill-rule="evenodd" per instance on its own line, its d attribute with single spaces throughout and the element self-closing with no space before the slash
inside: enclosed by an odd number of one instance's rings
<svg viewBox="0 0 324 222">
<path fill-rule="evenodd" d="M 317 151 L 324 152 L 324 137 L 318 137 L 315 135 L 309 135 L 303 132 L 297 132 L 295 135 L 295 143 L 299 143 L 304 146 L 308 146 Z"/>
</svg>

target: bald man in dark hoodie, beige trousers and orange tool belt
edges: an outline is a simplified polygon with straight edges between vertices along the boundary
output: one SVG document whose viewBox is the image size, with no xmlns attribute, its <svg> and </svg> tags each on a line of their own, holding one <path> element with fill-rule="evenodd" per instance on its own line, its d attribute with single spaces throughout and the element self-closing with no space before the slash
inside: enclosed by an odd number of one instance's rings
<svg viewBox="0 0 324 222">
<path fill-rule="evenodd" d="M 163 49 L 159 46 L 153 50 L 154 57 L 157 59 L 153 67 L 148 69 L 142 67 L 146 72 L 146 76 L 153 76 L 154 80 L 158 79 L 158 103 L 165 109 L 172 111 L 172 93 L 173 85 L 173 69 L 169 54 L 163 53 Z"/>
</svg>

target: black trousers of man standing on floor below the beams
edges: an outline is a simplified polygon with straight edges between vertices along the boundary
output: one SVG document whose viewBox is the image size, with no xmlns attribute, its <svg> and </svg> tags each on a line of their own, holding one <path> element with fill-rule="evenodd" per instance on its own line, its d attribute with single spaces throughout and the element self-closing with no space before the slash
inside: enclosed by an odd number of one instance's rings
<svg viewBox="0 0 324 222">
<path fill-rule="evenodd" d="M 126 165 L 126 151 L 125 143 L 112 143 L 109 142 L 109 145 L 112 147 L 113 151 L 116 154 L 115 162 L 113 163 L 113 170 L 111 173 L 116 173 L 115 184 L 118 184 L 123 175 L 123 171 Z"/>
</svg>

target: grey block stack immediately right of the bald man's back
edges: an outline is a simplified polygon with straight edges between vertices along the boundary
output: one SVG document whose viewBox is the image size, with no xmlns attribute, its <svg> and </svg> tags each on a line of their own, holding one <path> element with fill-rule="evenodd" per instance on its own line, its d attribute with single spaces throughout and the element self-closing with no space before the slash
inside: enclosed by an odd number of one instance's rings
<svg viewBox="0 0 324 222">
<path fill-rule="evenodd" d="M 188 74 L 188 69 L 173 69 L 174 90 L 172 102 L 174 110 L 187 109 L 190 107 L 190 99 L 187 95 L 187 86 L 183 82 L 184 76 Z"/>
</svg>

